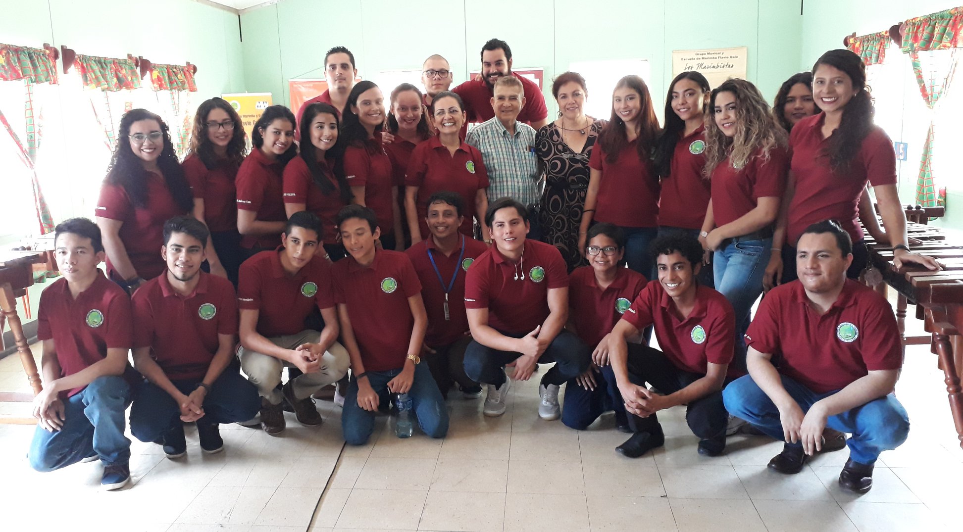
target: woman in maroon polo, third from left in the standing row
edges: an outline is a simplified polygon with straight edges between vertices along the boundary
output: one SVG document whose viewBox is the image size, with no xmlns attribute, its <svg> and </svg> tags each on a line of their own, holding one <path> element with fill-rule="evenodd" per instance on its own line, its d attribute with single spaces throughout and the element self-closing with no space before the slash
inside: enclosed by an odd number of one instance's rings
<svg viewBox="0 0 963 532">
<path fill-rule="evenodd" d="M 265 109 L 254 123 L 251 144 L 236 180 L 238 231 L 248 257 L 277 247 L 287 223 L 282 174 L 298 156 L 295 115 L 283 105 Z"/>
</svg>

